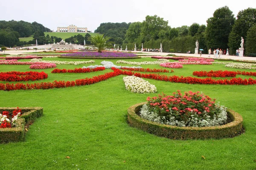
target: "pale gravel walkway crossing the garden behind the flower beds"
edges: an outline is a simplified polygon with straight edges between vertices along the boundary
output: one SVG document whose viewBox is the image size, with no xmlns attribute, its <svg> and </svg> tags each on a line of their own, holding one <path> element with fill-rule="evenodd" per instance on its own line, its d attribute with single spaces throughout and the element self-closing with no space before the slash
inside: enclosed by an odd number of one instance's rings
<svg viewBox="0 0 256 170">
<path fill-rule="evenodd" d="M 41 51 L 47 51 L 47 50 L 37 50 L 37 52 Z M 11 55 L 18 55 L 18 54 L 23 54 L 23 53 L 28 53 L 28 52 L 35 52 L 34 50 L 6 50 L 6 54 L 11 54 Z M 131 51 L 134 52 L 134 51 Z M 137 51 L 138 53 L 141 54 L 141 51 Z M 4 54 L 4 52 L 0 52 L 0 54 Z M 200 57 L 200 54 L 184 54 L 184 53 L 159 53 L 159 52 L 143 52 L 143 55 L 161 55 L 161 56 L 166 56 L 168 54 L 175 54 L 176 56 L 188 56 L 188 57 Z M 208 57 L 208 54 L 202 54 L 202 57 Z M 213 54 L 211 54 L 211 57 L 213 58 Z M 256 57 L 236 57 L 236 56 L 226 56 L 222 55 L 223 59 L 239 59 L 239 60 L 253 60 L 256 61 Z"/>
</svg>

